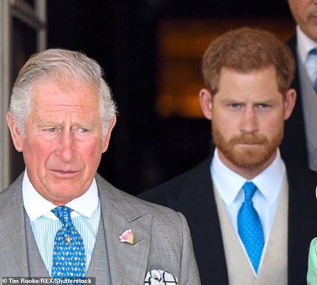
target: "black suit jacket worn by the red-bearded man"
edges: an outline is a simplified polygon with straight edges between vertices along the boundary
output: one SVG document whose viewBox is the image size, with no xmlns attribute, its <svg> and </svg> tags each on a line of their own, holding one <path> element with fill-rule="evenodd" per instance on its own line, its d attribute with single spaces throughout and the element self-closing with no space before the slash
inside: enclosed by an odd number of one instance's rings
<svg viewBox="0 0 317 285">
<path fill-rule="evenodd" d="M 210 158 L 140 197 L 182 212 L 188 222 L 201 284 L 228 284 Z M 309 242 L 317 236 L 316 172 L 287 168 L 289 184 L 288 284 L 306 284 Z"/>
</svg>

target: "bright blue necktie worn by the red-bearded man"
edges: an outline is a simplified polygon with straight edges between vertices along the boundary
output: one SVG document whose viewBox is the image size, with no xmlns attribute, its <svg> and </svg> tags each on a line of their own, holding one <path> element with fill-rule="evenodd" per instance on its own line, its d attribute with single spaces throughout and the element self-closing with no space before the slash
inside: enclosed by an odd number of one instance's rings
<svg viewBox="0 0 317 285">
<path fill-rule="evenodd" d="M 256 186 L 253 182 L 245 182 L 243 189 L 244 201 L 237 214 L 238 233 L 257 273 L 264 246 L 264 238 L 261 221 L 251 201 Z"/>
</svg>

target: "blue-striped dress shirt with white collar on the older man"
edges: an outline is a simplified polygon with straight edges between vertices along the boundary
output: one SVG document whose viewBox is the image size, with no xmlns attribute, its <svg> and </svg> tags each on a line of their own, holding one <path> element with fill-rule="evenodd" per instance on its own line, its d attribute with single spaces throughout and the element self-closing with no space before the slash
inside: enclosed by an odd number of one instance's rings
<svg viewBox="0 0 317 285">
<path fill-rule="evenodd" d="M 56 232 L 62 226 L 60 220 L 51 212 L 51 209 L 56 207 L 56 205 L 44 199 L 35 190 L 28 179 L 26 170 L 22 182 L 22 196 L 23 205 L 30 220 L 36 245 L 47 272 L 50 274 L 54 239 Z M 71 200 L 66 206 L 73 209 L 71 219 L 83 240 L 87 271 L 100 219 L 100 200 L 95 179 L 93 179 L 90 187 L 84 194 Z"/>
</svg>

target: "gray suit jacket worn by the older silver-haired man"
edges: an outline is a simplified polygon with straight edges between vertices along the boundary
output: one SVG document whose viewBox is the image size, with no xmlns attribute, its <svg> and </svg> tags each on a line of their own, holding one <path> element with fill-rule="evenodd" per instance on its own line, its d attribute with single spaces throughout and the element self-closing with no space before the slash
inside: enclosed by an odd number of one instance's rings
<svg viewBox="0 0 317 285">
<path fill-rule="evenodd" d="M 142 201 L 96 175 L 112 284 L 143 284 L 151 269 L 162 269 L 178 284 L 200 284 L 187 222 L 182 214 Z M 21 194 L 22 174 L 0 192 L 0 277 L 29 276 Z M 131 228 L 135 246 L 119 241 Z M 94 254 L 94 253 L 93 253 Z M 105 257 L 106 258 L 106 257 Z M 89 264 L 95 266 L 96 264 Z M 98 276 L 96 277 L 96 283 Z"/>
</svg>

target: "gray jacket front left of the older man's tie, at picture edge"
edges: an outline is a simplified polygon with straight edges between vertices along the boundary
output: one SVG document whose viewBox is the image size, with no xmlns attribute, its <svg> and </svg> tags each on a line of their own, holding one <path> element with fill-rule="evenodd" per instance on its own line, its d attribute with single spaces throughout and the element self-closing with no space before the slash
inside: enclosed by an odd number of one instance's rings
<svg viewBox="0 0 317 285">
<path fill-rule="evenodd" d="M 21 193 L 23 173 L 1 192 L 0 274 L 29 276 Z"/>
</svg>

